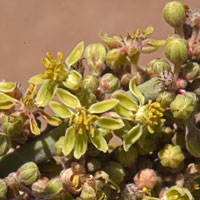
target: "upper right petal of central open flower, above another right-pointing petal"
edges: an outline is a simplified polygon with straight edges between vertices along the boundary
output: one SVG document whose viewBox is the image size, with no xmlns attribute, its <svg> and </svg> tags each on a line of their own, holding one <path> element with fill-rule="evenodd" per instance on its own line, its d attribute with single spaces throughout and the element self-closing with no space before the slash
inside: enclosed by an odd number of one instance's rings
<svg viewBox="0 0 200 200">
<path fill-rule="evenodd" d="M 91 105 L 89 111 L 91 113 L 104 113 L 108 110 L 113 109 L 118 103 L 119 100 L 117 99 L 104 100 Z"/>
</svg>

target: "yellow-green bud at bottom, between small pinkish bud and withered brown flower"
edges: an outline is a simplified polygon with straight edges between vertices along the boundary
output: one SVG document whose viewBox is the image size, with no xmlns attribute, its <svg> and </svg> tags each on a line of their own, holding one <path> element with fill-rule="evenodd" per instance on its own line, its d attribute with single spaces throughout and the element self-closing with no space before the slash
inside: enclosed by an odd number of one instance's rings
<svg viewBox="0 0 200 200">
<path fill-rule="evenodd" d="M 60 192 L 61 190 L 63 190 L 62 181 L 60 178 L 53 178 L 46 184 L 44 193 L 54 194 Z"/>
</svg>

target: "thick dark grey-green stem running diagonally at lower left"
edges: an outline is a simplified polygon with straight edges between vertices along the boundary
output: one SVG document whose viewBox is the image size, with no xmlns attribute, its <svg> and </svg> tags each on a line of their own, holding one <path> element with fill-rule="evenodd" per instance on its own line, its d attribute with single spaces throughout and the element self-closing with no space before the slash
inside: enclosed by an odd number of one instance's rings
<svg viewBox="0 0 200 200">
<path fill-rule="evenodd" d="M 65 134 L 67 125 L 68 123 L 65 122 L 48 133 L 43 133 L 35 140 L 26 143 L 21 148 L 3 156 L 0 159 L 0 178 L 17 171 L 21 165 L 28 161 L 40 163 L 56 155 L 54 144 L 60 136 Z"/>
</svg>

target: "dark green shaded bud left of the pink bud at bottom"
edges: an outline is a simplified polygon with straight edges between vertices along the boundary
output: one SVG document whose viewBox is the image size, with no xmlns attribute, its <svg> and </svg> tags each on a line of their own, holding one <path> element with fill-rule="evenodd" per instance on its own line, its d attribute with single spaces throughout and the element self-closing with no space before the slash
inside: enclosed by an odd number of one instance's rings
<svg viewBox="0 0 200 200">
<path fill-rule="evenodd" d="M 124 181 L 125 172 L 123 167 L 119 163 L 110 161 L 106 164 L 106 167 L 103 170 L 109 175 L 109 178 L 116 184 L 120 184 Z"/>
</svg>

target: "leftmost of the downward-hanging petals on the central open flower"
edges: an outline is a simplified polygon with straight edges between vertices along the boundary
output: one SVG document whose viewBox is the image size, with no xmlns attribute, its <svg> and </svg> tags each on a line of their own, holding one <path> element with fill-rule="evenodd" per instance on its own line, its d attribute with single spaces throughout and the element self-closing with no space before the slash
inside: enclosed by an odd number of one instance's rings
<svg viewBox="0 0 200 200">
<path fill-rule="evenodd" d="M 63 154 L 68 156 L 75 146 L 75 135 L 72 134 L 73 127 L 69 127 L 65 131 L 65 138 L 63 142 Z"/>
</svg>

